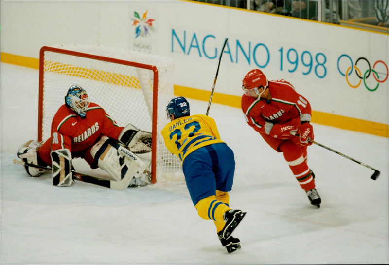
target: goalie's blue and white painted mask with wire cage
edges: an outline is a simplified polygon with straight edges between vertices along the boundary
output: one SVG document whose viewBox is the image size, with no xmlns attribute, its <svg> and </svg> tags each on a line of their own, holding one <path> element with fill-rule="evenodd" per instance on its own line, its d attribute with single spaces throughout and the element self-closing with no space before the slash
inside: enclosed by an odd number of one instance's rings
<svg viewBox="0 0 389 265">
<path fill-rule="evenodd" d="M 65 105 L 85 118 L 89 106 L 88 94 L 85 89 L 79 85 L 72 85 L 65 96 Z"/>
</svg>

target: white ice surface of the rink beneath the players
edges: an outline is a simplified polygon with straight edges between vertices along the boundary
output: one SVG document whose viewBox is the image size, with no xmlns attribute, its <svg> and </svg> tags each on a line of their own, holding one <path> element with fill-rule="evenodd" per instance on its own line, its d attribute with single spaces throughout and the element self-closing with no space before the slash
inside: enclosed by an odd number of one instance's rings
<svg viewBox="0 0 389 265">
<path fill-rule="evenodd" d="M 212 103 L 209 115 L 235 153 L 230 206 L 247 211 L 233 233 L 242 249 L 228 254 L 213 222 L 197 215 L 184 181 L 117 191 L 83 182 L 54 187 L 51 174 L 29 177 L 12 159 L 37 139 L 38 71 L 1 63 L 0 80 L 1 265 L 389 262 L 386 137 L 313 124 L 317 142 L 381 171 L 373 181 L 373 170 L 310 146 L 318 209 L 241 110 Z M 208 102 L 188 101 L 192 114 L 206 113 Z"/>
</svg>

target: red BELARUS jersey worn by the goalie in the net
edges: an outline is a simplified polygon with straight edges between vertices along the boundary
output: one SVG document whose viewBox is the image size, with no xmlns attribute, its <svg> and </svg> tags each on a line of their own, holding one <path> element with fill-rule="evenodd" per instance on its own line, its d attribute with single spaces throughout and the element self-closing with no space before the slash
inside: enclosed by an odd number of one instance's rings
<svg viewBox="0 0 389 265">
<path fill-rule="evenodd" d="M 117 140 L 123 128 L 95 103 L 90 102 L 85 118 L 64 104 L 54 115 L 51 137 L 39 148 L 38 156 L 51 166 L 50 152 L 66 148 L 71 151 L 73 158 L 82 157 L 92 165 L 94 160 L 90 155 L 91 147 L 102 135 Z"/>
</svg>

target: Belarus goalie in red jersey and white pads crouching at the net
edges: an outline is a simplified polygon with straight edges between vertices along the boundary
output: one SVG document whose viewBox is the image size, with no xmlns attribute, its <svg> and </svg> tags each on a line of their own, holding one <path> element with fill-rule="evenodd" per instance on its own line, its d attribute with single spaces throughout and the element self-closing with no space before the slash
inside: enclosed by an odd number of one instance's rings
<svg viewBox="0 0 389 265">
<path fill-rule="evenodd" d="M 83 158 L 92 169 L 105 170 L 116 181 L 131 174 L 126 177 L 131 179 L 129 186 L 150 184 L 147 165 L 147 168 L 131 167 L 136 159 L 120 154 L 119 145 L 128 148 L 137 158 L 136 153 L 151 151 L 151 133 L 141 131 L 132 124 L 118 126 L 102 107 L 89 102 L 88 94 L 82 87 L 73 85 L 65 96 L 65 104 L 53 117 L 51 137 L 43 144 L 36 140 L 28 141 L 17 155 L 26 163 L 52 167 L 55 186 L 72 184 L 71 160 L 77 157 Z M 42 171 L 28 166 L 25 170 L 33 177 L 39 176 Z"/>
</svg>

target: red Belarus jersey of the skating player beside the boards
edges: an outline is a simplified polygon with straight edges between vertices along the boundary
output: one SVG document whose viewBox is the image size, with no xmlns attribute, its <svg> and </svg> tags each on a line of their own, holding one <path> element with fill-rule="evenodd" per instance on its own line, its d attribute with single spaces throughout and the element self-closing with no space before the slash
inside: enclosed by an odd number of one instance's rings
<svg viewBox="0 0 389 265">
<path fill-rule="evenodd" d="M 265 122 L 300 128 L 301 120 L 308 115 L 310 119 L 311 105 L 289 82 L 283 79 L 269 80 L 268 89 L 271 100 L 242 96 L 242 111 L 246 115 L 246 122 L 255 131 L 265 133 Z"/>
</svg>

